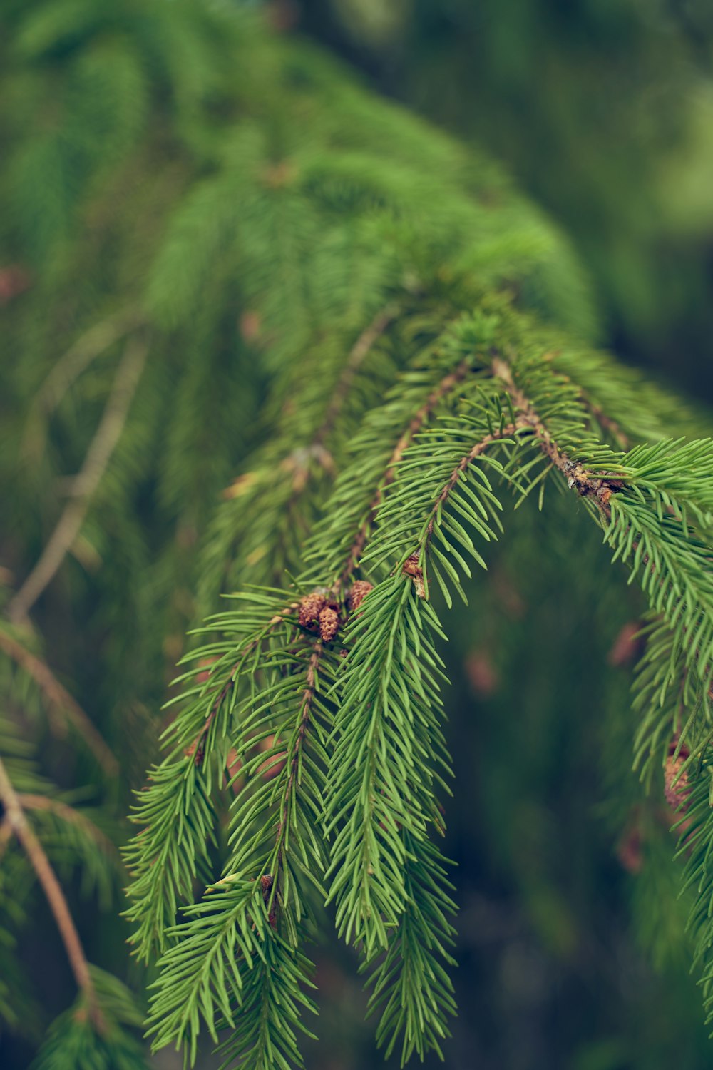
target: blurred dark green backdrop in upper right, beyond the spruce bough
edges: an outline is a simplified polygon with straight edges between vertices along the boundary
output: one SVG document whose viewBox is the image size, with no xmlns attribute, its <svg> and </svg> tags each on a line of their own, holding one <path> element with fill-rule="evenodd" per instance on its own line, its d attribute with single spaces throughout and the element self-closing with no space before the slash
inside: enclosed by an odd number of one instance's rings
<svg viewBox="0 0 713 1070">
<path fill-rule="evenodd" d="M 573 238 L 617 351 L 713 397 L 707 0 L 310 0 L 303 25 L 506 162 Z"/>
</svg>

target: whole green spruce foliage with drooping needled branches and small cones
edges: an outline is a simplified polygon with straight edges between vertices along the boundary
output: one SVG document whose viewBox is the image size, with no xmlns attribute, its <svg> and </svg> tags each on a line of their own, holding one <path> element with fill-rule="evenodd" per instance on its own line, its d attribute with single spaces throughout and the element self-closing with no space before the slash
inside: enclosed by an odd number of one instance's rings
<svg viewBox="0 0 713 1070">
<path fill-rule="evenodd" d="M 20 976 L 34 874 L 78 988 L 36 1066 L 143 1065 L 63 884 L 112 892 L 104 823 L 146 754 L 124 913 L 154 1049 L 301 1065 L 334 920 L 387 1057 L 444 1053 L 444 641 L 493 544 L 540 523 L 648 605 L 635 761 L 678 824 L 711 1010 L 706 417 L 595 348 L 567 241 L 495 165 L 305 42 L 193 2 L 2 21 L 1 951 Z M 74 698 L 50 664 L 79 622 Z M 55 746 L 99 814 L 32 764 Z M 0 981 L 11 1027 L 24 998 Z"/>
</svg>

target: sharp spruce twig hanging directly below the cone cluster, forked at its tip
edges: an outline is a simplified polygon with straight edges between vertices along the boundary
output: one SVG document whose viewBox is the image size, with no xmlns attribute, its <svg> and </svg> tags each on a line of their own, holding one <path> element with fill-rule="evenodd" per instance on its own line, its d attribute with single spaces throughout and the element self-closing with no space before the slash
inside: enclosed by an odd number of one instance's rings
<svg viewBox="0 0 713 1070">
<path fill-rule="evenodd" d="M 323 808 L 319 784 L 330 721 L 321 691 L 334 679 L 335 654 L 327 657 L 324 640 L 301 635 L 294 614 L 275 613 L 275 594 L 252 600 L 267 621 L 255 629 L 257 614 L 250 617 L 243 668 L 231 672 L 238 696 L 234 727 L 226 724 L 221 733 L 229 733 L 231 766 L 243 782 L 232 804 L 231 855 L 223 876 L 201 903 L 184 908 L 186 920 L 169 934 L 150 1022 L 155 1046 L 183 1043 L 190 1060 L 201 1019 L 216 1041 L 218 1030 L 230 1026 L 234 1036 L 226 1046 L 237 1045 L 246 1066 L 266 1068 L 273 1058 L 285 1067 L 299 1060 L 294 1028 L 304 1030 L 299 1011 L 313 1009 L 301 991 L 311 965 L 297 945 L 305 926 L 301 886 L 320 888 L 323 869 L 310 828 Z M 227 613 L 220 624 L 224 629 L 238 620 Z M 260 667 L 257 679 L 248 656 Z M 219 666 L 212 672 L 220 678 Z M 266 738 L 267 752 L 260 747 Z M 215 735 L 206 737 L 206 756 L 216 746 Z M 200 931 L 190 920 L 198 914 L 204 919 Z M 237 947 L 236 933 L 243 933 Z M 198 987 L 191 964 L 199 968 Z M 222 1022 L 214 1018 L 214 1000 Z"/>
</svg>

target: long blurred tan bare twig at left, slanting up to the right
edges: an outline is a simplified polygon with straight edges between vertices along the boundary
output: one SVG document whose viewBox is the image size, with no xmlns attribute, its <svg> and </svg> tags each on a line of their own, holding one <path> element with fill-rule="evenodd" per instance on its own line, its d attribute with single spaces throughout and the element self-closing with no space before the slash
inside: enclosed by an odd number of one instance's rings
<svg viewBox="0 0 713 1070">
<path fill-rule="evenodd" d="M 129 338 L 117 369 L 104 415 L 87 450 L 81 471 L 73 480 L 73 500 L 60 517 L 40 561 L 12 599 L 7 609 L 11 621 L 25 620 L 64 561 L 65 554 L 72 549 L 84 521 L 92 494 L 124 429 L 148 351 L 149 345 L 144 338 L 136 336 Z"/>
</svg>

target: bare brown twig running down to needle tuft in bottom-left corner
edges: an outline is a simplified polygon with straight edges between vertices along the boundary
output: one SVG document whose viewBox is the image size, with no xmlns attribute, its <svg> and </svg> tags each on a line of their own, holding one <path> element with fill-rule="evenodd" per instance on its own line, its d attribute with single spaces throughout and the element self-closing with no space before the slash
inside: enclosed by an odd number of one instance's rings
<svg viewBox="0 0 713 1070">
<path fill-rule="evenodd" d="M 97 1005 L 94 983 L 89 972 L 89 964 L 81 946 L 79 933 L 69 913 L 67 901 L 64 898 L 64 892 L 57 880 L 55 870 L 49 863 L 44 847 L 25 816 L 19 796 L 13 788 L 2 759 L 0 759 L 0 800 L 5 810 L 5 819 L 28 856 L 30 865 L 45 892 L 49 907 L 55 915 L 57 928 L 60 931 L 72 972 L 77 981 L 77 987 L 87 999 L 89 1015 L 96 1028 L 103 1029 L 104 1019 Z"/>
</svg>

